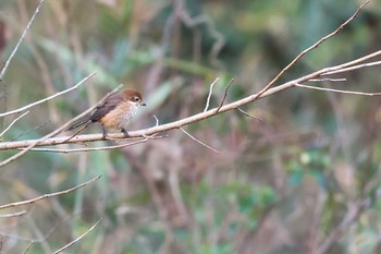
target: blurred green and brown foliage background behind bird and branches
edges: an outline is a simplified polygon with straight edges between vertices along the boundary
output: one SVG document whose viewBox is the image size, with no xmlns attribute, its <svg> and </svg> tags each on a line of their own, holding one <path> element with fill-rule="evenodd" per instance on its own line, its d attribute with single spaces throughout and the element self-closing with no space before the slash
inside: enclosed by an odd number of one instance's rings
<svg viewBox="0 0 381 254">
<path fill-rule="evenodd" d="M 0 2 L 1 68 L 38 5 Z M 123 83 L 148 107 L 131 130 L 258 92 L 302 50 L 334 31 L 359 0 L 45 1 L 0 83 L 1 112 L 69 88 L 39 105 L 2 141 L 38 138 Z M 276 85 L 380 50 L 381 2 L 371 1 Z M 381 92 L 380 68 L 325 87 Z M 0 253 L 302 254 L 381 253 L 379 97 L 292 88 L 168 137 L 114 150 L 30 152 L 2 168 L 0 202 L 84 189 L 0 217 Z M 1 130 L 17 116 L 0 119 Z M 99 133 L 99 126 L 84 133 Z M 67 135 L 67 133 L 63 133 Z M 112 142 L 67 145 L 84 148 Z M 15 152 L 1 152 L 1 160 Z M 328 240 L 328 241 L 325 241 Z M 32 243 L 32 244 L 30 244 Z M 327 244 L 323 246 L 323 244 Z M 325 249 L 324 249 L 325 247 Z"/>
</svg>

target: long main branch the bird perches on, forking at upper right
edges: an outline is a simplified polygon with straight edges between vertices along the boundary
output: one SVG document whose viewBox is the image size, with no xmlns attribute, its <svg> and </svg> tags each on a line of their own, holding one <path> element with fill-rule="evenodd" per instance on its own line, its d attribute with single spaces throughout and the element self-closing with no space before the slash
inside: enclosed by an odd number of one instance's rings
<svg viewBox="0 0 381 254">
<path fill-rule="evenodd" d="M 329 37 L 337 34 L 349 21 L 352 21 L 357 13 L 364 8 L 365 4 L 362 4 L 357 11 L 356 13 L 345 23 L 343 23 L 335 32 L 333 32 L 332 34 L 325 36 L 323 39 L 319 40 L 317 44 L 314 45 L 314 47 L 310 47 L 306 50 L 304 50 L 297 58 L 296 60 L 294 60 L 292 63 L 294 64 L 302 56 L 304 56 L 306 52 L 308 52 L 309 50 L 314 49 L 315 47 L 317 47 L 318 45 L 320 45 L 322 41 L 327 40 Z M 286 82 L 284 84 L 274 86 L 274 87 L 270 87 L 278 78 L 281 74 L 284 73 L 285 70 L 290 69 L 291 66 L 287 65 L 272 82 L 270 82 L 270 86 L 267 85 L 263 89 L 261 89 L 260 92 L 249 95 L 245 98 L 238 99 L 236 101 L 230 102 L 228 105 L 222 106 L 221 108 L 213 108 L 210 109 L 208 111 L 205 112 L 200 112 L 194 116 L 190 116 L 188 118 L 184 118 L 177 121 L 173 121 L 167 124 L 161 124 L 161 125 L 157 125 L 157 126 L 152 126 L 152 128 L 148 128 L 145 130 L 139 130 L 139 131 L 132 131 L 128 132 L 128 136 L 131 138 L 133 137 L 142 137 L 142 136 L 149 136 L 156 133 L 160 133 L 160 132 L 164 132 L 164 131 L 170 131 L 170 130 L 174 130 L 174 129 L 180 129 L 184 125 L 188 125 L 190 123 L 194 122 L 198 122 L 201 121 L 204 119 L 213 117 L 218 113 L 222 113 L 222 112 L 226 112 L 230 110 L 235 110 L 244 105 L 250 104 L 256 101 L 257 99 L 260 98 L 265 98 L 267 96 L 276 94 L 281 90 L 291 88 L 296 86 L 297 84 L 307 82 L 311 78 L 319 78 L 321 76 L 323 76 L 325 73 L 332 73 L 355 64 L 359 64 L 362 63 L 365 61 L 368 61 L 372 58 L 379 57 L 381 56 L 381 50 L 367 55 L 362 58 L 359 59 L 355 59 L 353 61 L 343 63 L 343 64 L 339 64 L 339 65 L 334 65 L 334 66 L 330 66 L 330 68 L 324 68 L 321 69 L 319 71 L 312 72 L 310 74 L 304 75 L 302 77 L 298 77 L 296 80 Z M 362 65 L 364 68 L 367 65 Z M 218 111 L 217 111 L 218 110 Z M 64 129 L 63 129 L 64 130 Z M 65 140 L 67 140 L 67 137 L 54 137 L 54 138 L 49 138 L 51 137 L 51 135 L 47 135 L 40 140 L 29 140 L 29 141 L 20 141 L 20 142 L 2 142 L 0 143 L 0 150 L 2 149 L 19 149 L 19 148 L 24 148 L 27 147 L 28 149 L 33 148 L 34 146 L 48 146 L 48 145 L 60 145 L 60 144 L 70 144 L 70 143 L 84 143 L 84 142 L 95 142 L 95 141 L 102 141 L 102 134 L 88 134 L 88 135 L 77 135 L 75 137 L 73 137 L 72 140 L 64 142 Z M 124 134 L 123 133 L 110 133 L 109 137 L 112 138 L 123 138 Z M 24 152 L 24 150 L 23 150 Z M 15 157 L 9 158 L 5 161 L 0 162 L 0 167 L 2 167 L 5 164 L 9 164 L 10 161 L 13 161 L 15 159 Z"/>
</svg>

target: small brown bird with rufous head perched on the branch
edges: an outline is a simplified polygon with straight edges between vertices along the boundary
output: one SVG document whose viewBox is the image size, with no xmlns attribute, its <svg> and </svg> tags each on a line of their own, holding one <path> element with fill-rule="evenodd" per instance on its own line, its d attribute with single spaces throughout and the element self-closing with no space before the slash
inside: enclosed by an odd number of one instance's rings
<svg viewBox="0 0 381 254">
<path fill-rule="evenodd" d="M 110 95 L 105 101 L 99 105 L 93 114 L 74 123 L 66 131 L 83 126 L 85 129 L 89 123 L 100 122 L 102 125 L 103 138 L 107 137 L 106 129 L 112 131 L 121 131 L 128 135 L 125 128 L 130 120 L 136 114 L 140 106 L 146 106 L 142 100 L 142 95 L 135 89 L 124 89 L 119 94 Z M 77 133 L 79 132 L 77 131 Z M 76 133 L 76 134 L 77 134 Z"/>
</svg>

